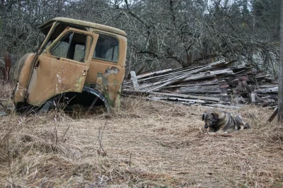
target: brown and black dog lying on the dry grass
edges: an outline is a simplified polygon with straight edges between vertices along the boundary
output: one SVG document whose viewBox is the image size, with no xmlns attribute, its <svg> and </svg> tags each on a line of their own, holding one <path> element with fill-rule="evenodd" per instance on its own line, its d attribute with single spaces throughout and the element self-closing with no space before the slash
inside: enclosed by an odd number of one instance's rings
<svg viewBox="0 0 283 188">
<path fill-rule="evenodd" d="M 209 132 L 231 132 L 239 129 L 250 129 L 249 124 L 243 122 L 241 116 L 229 114 L 221 110 L 209 110 L 202 114 L 202 121 L 205 122 L 204 128 Z"/>
</svg>

